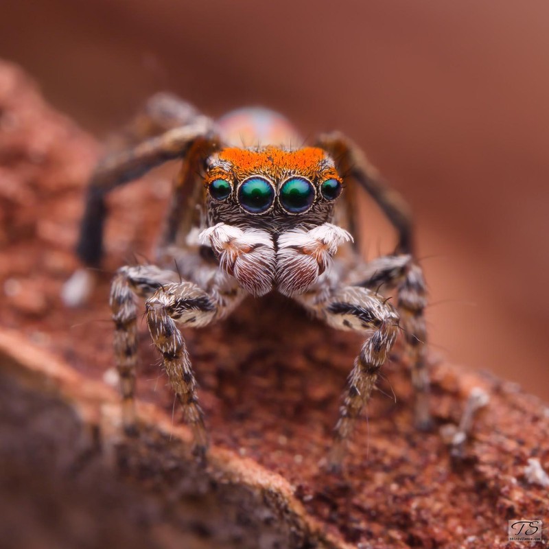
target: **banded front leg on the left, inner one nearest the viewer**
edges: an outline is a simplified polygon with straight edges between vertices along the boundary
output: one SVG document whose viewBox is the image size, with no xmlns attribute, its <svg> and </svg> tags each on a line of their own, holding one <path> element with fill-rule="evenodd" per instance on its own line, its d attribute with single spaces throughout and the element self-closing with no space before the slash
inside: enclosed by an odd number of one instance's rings
<svg viewBox="0 0 549 549">
<path fill-rule="evenodd" d="M 206 292 L 192 282 L 180 281 L 156 290 L 145 305 L 152 340 L 163 357 L 183 417 L 193 432 L 194 453 L 199 456 L 204 456 L 207 450 L 208 436 L 189 353 L 177 325 L 207 326 L 232 312 L 244 295 L 245 292 L 235 288 L 224 292 L 213 288 Z"/>
</svg>

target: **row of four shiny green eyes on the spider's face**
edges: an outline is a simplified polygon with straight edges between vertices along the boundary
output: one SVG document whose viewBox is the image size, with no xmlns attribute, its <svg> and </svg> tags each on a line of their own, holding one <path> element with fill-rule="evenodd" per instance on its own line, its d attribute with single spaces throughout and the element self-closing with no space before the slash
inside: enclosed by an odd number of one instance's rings
<svg viewBox="0 0 549 549">
<path fill-rule="evenodd" d="M 231 183 L 223 178 L 213 180 L 208 188 L 211 198 L 218 201 L 226 200 L 233 191 Z M 341 194 L 341 183 L 335 178 L 326 179 L 320 183 L 318 191 L 324 200 L 335 200 Z M 261 176 L 251 176 L 237 187 L 237 201 L 246 211 L 257 214 L 270 210 L 278 198 L 283 210 L 296 214 L 312 207 L 318 191 L 307 178 L 292 176 L 282 183 L 277 196 L 272 182 Z"/>
</svg>

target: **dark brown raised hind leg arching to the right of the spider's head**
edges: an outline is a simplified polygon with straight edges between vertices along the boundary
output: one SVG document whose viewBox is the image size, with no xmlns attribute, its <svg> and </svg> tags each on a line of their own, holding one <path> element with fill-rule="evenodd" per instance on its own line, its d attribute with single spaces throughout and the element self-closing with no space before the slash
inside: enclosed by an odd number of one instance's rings
<svg viewBox="0 0 549 549">
<path fill-rule="evenodd" d="M 414 246 L 413 224 L 410 209 L 404 198 L 392 189 L 360 150 L 358 145 L 340 132 L 320 135 L 317 145 L 330 153 L 338 164 L 340 173 L 354 180 L 375 200 L 398 233 L 396 253 L 412 253 Z M 349 185 L 342 198 L 346 211 L 349 231 L 358 238 L 358 201 L 356 186 Z M 360 242 L 355 240 L 355 249 L 360 250 Z"/>
</svg>

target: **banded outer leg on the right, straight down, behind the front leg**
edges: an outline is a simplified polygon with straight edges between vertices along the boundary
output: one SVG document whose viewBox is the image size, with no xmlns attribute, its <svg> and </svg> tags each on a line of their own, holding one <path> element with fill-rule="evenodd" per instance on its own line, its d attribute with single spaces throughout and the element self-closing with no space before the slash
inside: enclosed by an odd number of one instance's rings
<svg viewBox="0 0 549 549">
<path fill-rule="evenodd" d="M 411 255 L 388 255 L 366 264 L 351 275 L 355 285 L 375 292 L 396 288 L 397 310 L 404 329 L 406 350 L 415 391 L 415 423 L 421 430 L 430 428 L 429 371 L 426 359 L 427 331 L 424 310 L 427 303 L 425 281 L 421 267 Z"/>
</svg>

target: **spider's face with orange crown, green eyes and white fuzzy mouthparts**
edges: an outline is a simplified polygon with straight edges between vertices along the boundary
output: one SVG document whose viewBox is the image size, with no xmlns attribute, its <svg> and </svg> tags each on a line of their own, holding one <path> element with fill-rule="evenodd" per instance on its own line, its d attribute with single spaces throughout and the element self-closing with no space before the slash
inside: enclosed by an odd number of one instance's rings
<svg viewBox="0 0 549 549">
<path fill-rule="evenodd" d="M 324 150 L 225 148 L 207 164 L 202 243 L 251 294 L 304 292 L 351 240 L 331 224 L 342 183 Z"/>
</svg>

